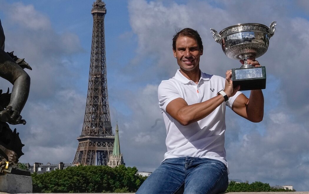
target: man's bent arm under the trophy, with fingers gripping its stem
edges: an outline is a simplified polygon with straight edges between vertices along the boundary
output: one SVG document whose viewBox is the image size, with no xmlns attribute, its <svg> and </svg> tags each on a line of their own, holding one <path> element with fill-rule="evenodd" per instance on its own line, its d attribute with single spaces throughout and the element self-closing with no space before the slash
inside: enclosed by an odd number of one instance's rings
<svg viewBox="0 0 309 194">
<path fill-rule="evenodd" d="M 257 61 L 248 60 L 248 64 L 259 67 Z M 252 90 L 249 99 L 240 94 L 234 101 L 232 110 L 249 121 L 258 123 L 264 116 L 264 96 L 262 90 Z"/>
</svg>

